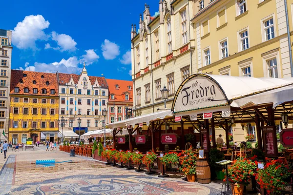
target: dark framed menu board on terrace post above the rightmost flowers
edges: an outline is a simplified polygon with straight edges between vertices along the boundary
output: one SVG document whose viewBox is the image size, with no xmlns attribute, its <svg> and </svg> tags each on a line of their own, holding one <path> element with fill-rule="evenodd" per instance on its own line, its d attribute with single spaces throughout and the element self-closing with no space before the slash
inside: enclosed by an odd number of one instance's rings
<svg viewBox="0 0 293 195">
<path fill-rule="evenodd" d="M 263 142 L 266 156 L 278 156 L 276 131 L 274 126 L 263 127 Z"/>
</svg>

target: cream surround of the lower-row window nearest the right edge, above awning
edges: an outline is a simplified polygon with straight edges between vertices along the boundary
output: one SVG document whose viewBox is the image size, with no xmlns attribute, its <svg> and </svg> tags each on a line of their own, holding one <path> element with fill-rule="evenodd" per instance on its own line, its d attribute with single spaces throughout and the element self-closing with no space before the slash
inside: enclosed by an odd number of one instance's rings
<svg viewBox="0 0 293 195">
<path fill-rule="evenodd" d="M 269 73 L 269 67 L 268 67 L 268 61 L 271 59 L 276 58 L 277 61 L 277 70 L 278 70 L 278 78 L 281 78 L 281 61 L 280 61 L 280 54 L 279 54 L 279 49 L 273 50 L 269 52 L 268 54 L 263 54 L 263 70 L 264 70 L 264 77 L 270 78 L 270 73 Z"/>
</svg>

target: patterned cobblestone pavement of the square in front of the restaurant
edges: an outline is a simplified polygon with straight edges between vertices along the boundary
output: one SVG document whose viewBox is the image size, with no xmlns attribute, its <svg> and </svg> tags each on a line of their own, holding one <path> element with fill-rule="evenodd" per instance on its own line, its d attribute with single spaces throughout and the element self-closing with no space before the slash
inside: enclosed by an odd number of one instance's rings
<svg viewBox="0 0 293 195">
<path fill-rule="evenodd" d="M 10 153 L 13 154 L 14 153 Z M 3 167 L 13 164 L 15 156 L 10 155 Z M 55 159 L 57 162 L 73 160 L 50 165 L 31 164 L 37 159 Z M 11 160 L 11 162 L 10 162 Z M 8 170 L 8 169 L 7 169 Z M 11 170 L 10 170 L 11 171 Z M 177 178 L 159 178 L 147 176 L 134 170 L 119 169 L 96 162 L 87 157 L 69 157 L 60 151 L 20 151 L 16 154 L 16 172 L 12 177 L 11 190 L 8 181 L 0 182 L 9 195 L 217 195 L 221 184 L 207 185 L 183 181 Z M 15 180 L 15 181 L 14 181 Z M 14 181 L 14 184 L 13 184 Z M 1 191 L 0 191 L 1 193 Z"/>
</svg>

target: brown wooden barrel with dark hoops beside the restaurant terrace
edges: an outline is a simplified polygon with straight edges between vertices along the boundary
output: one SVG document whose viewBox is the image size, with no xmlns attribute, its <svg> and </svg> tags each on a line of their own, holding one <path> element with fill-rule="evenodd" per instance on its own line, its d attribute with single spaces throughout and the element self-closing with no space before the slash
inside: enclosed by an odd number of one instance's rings
<svg viewBox="0 0 293 195">
<path fill-rule="evenodd" d="M 210 183 L 210 169 L 207 160 L 199 159 L 196 161 L 196 176 L 198 183 Z"/>
</svg>

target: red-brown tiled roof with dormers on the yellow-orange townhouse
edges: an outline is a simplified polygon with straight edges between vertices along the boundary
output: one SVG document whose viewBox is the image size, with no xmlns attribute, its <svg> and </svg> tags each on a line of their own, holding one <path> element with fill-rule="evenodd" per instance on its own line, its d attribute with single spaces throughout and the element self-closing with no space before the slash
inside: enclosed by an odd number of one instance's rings
<svg viewBox="0 0 293 195">
<path fill-rule="evenodd" d="M 26 77 L 25 77 L 26 76 Z M 43 76 L 43 78 L 42 78 Z M 21 83 L 22 80 L 22 83 Z M 33 81 L 36 84 L 33 84 Z M 49 81 L 49 85 L 46 82 Z M 19 87 L 19 92 L 15 92 L 15 87 Z M 28 88 L 28 93 L 24 93 L 24 88 Z M 38 93 L 34 94 L 33 89 L 37 88 Z M 46 89 L 47 93 L 42 94 L 42 89 Z M 55 90 L 55 94 L 51 94 L 51 89 Z M 36 96 L 58 96 L 57 76 L 54 73 L 40 73 L 22 70 L 11 70 L 10 94 L 36 95 Z"/>
</svg>

